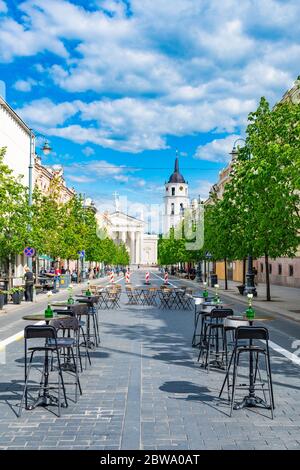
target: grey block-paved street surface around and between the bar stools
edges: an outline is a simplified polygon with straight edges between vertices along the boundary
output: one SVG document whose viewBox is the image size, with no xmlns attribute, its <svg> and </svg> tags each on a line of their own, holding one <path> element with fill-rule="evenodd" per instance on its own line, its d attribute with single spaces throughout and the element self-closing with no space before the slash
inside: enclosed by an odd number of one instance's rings
<svg viewBox="0 0 300 470">
<path fill-rule="evenodd" d="M 132 276 L 133 284 L 141 275 Z M 161 283 L 155 274 L 152 279 Z M 191 348 L 193 311 L 126 302 L 124 294 L 121 309 L 101 311 L 101 347 L 81 375 L 83 395 L 71 401 L 69 385 L 70 405 L 60 418 L 56 408 L 16 417 L 23 341 L 7 346 L 0 365 L 0 449 L 300 448 L 299 365 L 272 350 L 274 420 L 258 408 L 230 418 L 228 404 L 217 398 L 224 372 L 203 371 Z M 280 345 L 284 333 L 272 328 Z M 295 339 L 297 332 L 295 326 Z"/>
</svg>

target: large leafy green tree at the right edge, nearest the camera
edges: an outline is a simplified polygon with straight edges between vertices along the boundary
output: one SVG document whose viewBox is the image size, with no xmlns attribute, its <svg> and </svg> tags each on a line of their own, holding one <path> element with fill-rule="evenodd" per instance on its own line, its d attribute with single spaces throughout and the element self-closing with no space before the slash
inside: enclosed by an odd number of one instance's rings
<svg viewBox="0 0 300 470">
<path fill-rule="evenodd" d="M 268 300 L 269 258 L 293 256 L 299 244 L 299 118 L 299 105 L 281 103 L 271 110 L 261 99 L 249 115 L 246 145 L 218 203 L 232 224 L 235 258 L 265 256 Z"/>
</svg>

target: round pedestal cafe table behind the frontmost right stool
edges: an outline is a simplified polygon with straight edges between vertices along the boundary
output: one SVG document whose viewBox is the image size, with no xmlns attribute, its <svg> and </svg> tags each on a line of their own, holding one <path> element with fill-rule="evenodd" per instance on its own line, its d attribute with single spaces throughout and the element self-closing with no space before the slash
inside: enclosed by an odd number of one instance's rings
<svg viewBox="0 0 300 470">
<path fill-rule="evenodd" d="M 255 318 L 255 319 L 249 320 L 245 316 L 229 316 L 229 317 L 226 318 L 228 326 L 231 326 L 231 327 L 234 327 L 234 328 L 238 328 L 239 326 L 253 326 L 254 321 L 260 322 L 260 321 L 266 321 L 266 320 L 267 320 L 266 318 Z M 249 339 L 249 346 L 251 347 L 252 345 L 253 345 L 253 340 Z M 229 372 L 229 369 L 227 370 L 227 374 L 226 374 L 227 380 L 229 380 L 228 372 Z M 226 377 L 225 377 L 225 380 L 224 380 L 223 387 L 225 385 L 225 382 L 226 382 Z M 255 394 L 255 371 L 254 371 L 254 357 L 253 357 L 253 352 L 252 351 L 250 351 L 250 353 L 249 353 L 249 388 L 248 388 L 248 392 L 249 392 L 248 395 L 246 395 L 240 403 L 237 403 L 234 406 L 235 410 L 240 410 L 240 409 L 246 408 L 246 407 L 247 408 L 253 408 L 257 405 L 266 406 L 266 403 L 264 402 L 264 400 L 262 398 L 256 396 L 256 394 Z"/>
</svg>

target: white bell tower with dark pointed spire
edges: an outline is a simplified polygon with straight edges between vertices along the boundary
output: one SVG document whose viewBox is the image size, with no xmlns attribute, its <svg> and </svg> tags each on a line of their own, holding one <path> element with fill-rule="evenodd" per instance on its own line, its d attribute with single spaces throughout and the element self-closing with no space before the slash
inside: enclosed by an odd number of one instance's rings
<svg viewBox="0 0 300 470">
<path fill-rule="evenodd" d="M 165 183 L 165 212 L 163 233 L 167 234 L 171 227 L 176 227 L 189 207 L 189 186 L 179 172 L 178 157 L 175 159 L 174 172 Z"/>
</svg>

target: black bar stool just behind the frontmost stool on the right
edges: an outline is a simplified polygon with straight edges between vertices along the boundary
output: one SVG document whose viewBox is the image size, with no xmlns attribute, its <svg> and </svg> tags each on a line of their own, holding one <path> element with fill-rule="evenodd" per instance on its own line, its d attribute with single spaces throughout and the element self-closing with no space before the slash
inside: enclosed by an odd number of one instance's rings
<svg viewBox="0 0 300 470">
<path fill-rule="evenodd" d="M 224 368 L 225 366 L 227 368 L 228 354 L 224 320 L 232 315 L 233 310 L 230 308 L 214 308 L 211 312 L 204 313 L 203 315 L 198 362 L 202 358 L 201 365 L 208 372 L 211 365 L 219 368 Z"/>
</svg>

